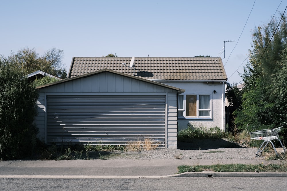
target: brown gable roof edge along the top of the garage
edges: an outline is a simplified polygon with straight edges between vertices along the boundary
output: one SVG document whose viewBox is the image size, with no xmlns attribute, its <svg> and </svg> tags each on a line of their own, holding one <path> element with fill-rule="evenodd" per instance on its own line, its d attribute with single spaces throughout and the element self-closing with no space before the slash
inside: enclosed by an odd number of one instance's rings
<svg viewBox="0 0 287 191">
<path fill-rule="evenodd" d="M 165 88 L 173 89 L 173 90 L 176 90 L 176 91 L 178 91 L 178 92 L 185 92 L 185 89 L 181 89 L 181 88 L 169 86 L 169 85 L 162 84 L 162 83 L 159 83 L 159 82 L 154 82 L 154 81 L 152 81 L 152 80 L 147 80 L 147 79 L 139 78 L 139 77 L 137 77 L 137 76 L 131 76 L 131 75 L 129 75 L 129 74 L 123 74 L 123 73 L 121 73 L 121 72 L 117 72 L 117 71 L 113 71 L 113 70 L 108 70 L 108 69 L 98 70 L 98 71 L 96 71 L 96 72 L 90 72 L 90 73 L 83 74 L 83 75 L 80 75 L 80 76 L 75 76 L 75 77 L 72 77 L 72 78 L 67 78 L 67 79 L 64 79 L 64 80 L 60 80 L 60 81 L 57 81 L 57 82 L 53 82 L 53 83 L 50 83 L 50 84 L 44 84 L 44 85 L 38 86 L 38 87 L 36 87 L 36 88 L 37 88 L 37 89 L 42 89 L 42 88 L 46 88 L 46 87 L 49 87 L 49 86 L 54 86 L 54 85 L 57 85 L 57 84 L 69 82 L 69 81 L 72 81 L 72 80 L 77 80 L 77 79 L 80 79 L 80 78 L 86 78 L 86 77 L 93 76 L 93 75 L 96 75 L 96 74 L 100 74 L 100 73 L 103 73 L 103 72 L 110 72 L 110 73 L 113 73 L 113 74 L 117 74 L 117 75 L 120 75 L 120 76 L 125 76 L 125 77 L 132 78 L 132 79 L 135 79 L 135 80 L 141 80 L 141 81 L 144 81 L 144 82 L 147 82 L 147 83 L 150 83 L 150 84 L 154 84 L 154 85 L 162 86 L 162 87 L 165 87 Z"/>
</svg>

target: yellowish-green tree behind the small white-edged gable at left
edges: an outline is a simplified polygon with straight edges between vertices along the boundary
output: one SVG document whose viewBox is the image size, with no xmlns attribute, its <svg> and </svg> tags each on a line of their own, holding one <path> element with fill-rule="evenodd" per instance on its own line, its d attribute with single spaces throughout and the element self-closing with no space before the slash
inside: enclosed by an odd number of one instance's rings
<svg viewBox="0 0 287 191">
<path fill-rule="evenodd" d="M 67 78 L 67 71 L 62 64 L 63 50 L 52 48 L 39 56 L 34 48 L 23 48 L 15 53 L 11 53 L 7 60 L 11 66 L 21 68 L 25 75 L 41 70 L 58 78 Z"/>
</svg>

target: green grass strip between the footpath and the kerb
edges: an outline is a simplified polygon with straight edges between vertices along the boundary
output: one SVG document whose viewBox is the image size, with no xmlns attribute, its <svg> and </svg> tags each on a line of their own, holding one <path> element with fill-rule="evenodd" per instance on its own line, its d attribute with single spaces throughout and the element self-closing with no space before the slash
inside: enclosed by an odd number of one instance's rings
<svg viewBox="0 0 287 191">
<path fill-rule="evenodd" d="M 195 165 L 178 166 L 178 174 L 184 172 L 203 172 L 211 170 L 214 172 L 287 172 L 287 164 L 214 164 L 214 165 Z"/>
</svg>

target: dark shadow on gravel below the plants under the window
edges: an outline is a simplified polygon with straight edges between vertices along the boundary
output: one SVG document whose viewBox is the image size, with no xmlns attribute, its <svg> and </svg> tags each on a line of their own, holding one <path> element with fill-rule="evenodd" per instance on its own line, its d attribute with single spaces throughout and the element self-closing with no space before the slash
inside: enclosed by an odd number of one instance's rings
<svg viewBox="0 0 287 191">
<path fill-rule="evenodd" d="M 222 138 L 218 139 L 192 139 L 187 141 L 177 141 L 177 149 L 181 150 L 208 150 L 219 148 L 246 148 L 238 143 L 232 143 Z"/>
</svg>

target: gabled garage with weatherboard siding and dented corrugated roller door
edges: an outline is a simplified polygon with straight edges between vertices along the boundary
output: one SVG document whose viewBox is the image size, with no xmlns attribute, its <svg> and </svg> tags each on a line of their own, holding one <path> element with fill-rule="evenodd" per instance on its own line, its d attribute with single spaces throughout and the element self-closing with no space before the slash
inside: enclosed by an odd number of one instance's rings
<svg viewBox="0 0 287 191">
<path fill-rule="evenodd" d="M 177 148 L 180 88 L 104 69 L 37 87 L 36 125 L 46 144 Z"/>
</svg>

